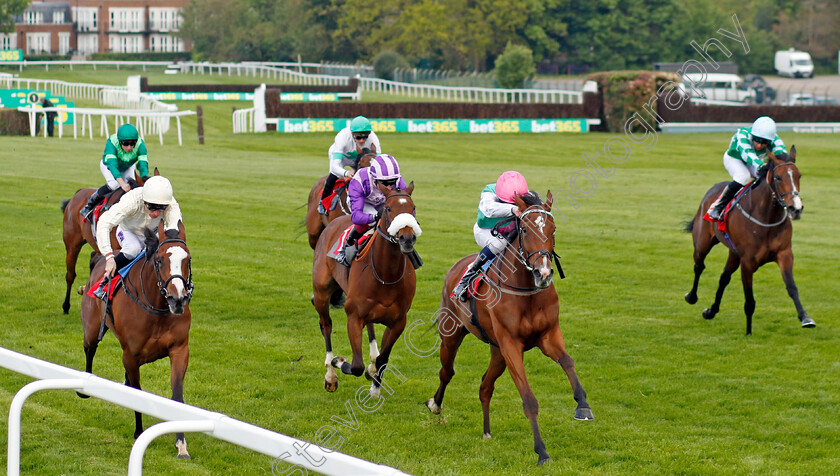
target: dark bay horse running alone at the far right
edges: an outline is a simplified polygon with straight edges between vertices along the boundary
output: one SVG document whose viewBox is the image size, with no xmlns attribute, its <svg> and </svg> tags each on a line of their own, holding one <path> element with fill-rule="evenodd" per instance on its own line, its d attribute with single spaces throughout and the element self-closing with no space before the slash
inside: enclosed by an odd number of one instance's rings
<svg viewBox="0 0 840 476">
<path fill-rule="evenodd" d="M 765 263 L 775 261 L 782 271 L 788 295 L 793 299 L 802 327 L 815 327 L 816 323 L 799 302 L 799 291 L 793 280 L 793 250 L 790 238 L 793 235 L 791 220 L 802 216 L 802 199 L 799 196 L 799 169 L 796 167 L 796 147 L 790 155 L 773 155 L 768 152 L 769 162 L 759 169 L 756 186 L 744 192 L 727 218 L 728 235 L 718 229 L 717 223 L 703 219 L 709 205 L 720 195 L 727 182 L 713 186 L 703 201 L 694 219 L 686 225 L 694 239 L 694 284 L 685 295 L 689 304 L 697 302 L 697 285 L 706 255 L 719 242 L 729 248 L 729 258 L 720 276 L 715 302 L 703 311 L 703 317 L 713 319 L 720 311 L 723 291 L 732 273 L 741 267 L 741 281 L 744 285 L 744 313 L 747 316 L 747 335 L 752 334 L 752 316 L 755 311 L 752 280 L 756 270 Z"/>
</svg>

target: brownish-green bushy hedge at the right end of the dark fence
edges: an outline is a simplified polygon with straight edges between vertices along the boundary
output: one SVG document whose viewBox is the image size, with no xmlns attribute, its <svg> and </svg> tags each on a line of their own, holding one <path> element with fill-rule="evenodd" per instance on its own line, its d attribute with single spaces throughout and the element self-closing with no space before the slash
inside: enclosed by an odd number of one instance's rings
<svg viewBox="0 0 840 476">
<path fill-rule="evenodd" d="M 680 82 L 676 73 L 664 71 L 604 71 L 587 78 L 598 83 L 603 110 L 601 120 L 610 132 L 621 132 L 624 124 L 635 113 L 649 118 L 642 106 L 650 103 L 657 109 L 657 91 L 668 83 Z"/>
</svg>

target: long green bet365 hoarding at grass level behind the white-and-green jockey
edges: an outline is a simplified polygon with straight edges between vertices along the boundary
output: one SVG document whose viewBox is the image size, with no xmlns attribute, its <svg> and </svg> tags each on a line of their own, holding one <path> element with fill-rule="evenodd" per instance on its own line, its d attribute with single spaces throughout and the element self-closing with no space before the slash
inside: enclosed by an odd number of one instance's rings
<svg viewBox="0 0 840 476">
<path fill-rule="evenodd" d="M 280 119 L 277 132 L 338 132 L 347 119 Z M 589 132 L 586 119 L 371 119 L 380 132 L 516 134 Z"/>
</svg>

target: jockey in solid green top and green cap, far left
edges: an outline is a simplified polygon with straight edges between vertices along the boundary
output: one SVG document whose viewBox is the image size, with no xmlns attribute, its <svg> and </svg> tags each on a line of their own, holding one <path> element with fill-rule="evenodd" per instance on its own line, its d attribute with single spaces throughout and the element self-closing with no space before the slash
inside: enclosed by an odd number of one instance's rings
<svg viewBox="0 0 840 476">
<path fill-rule="evenodd" d="M 149 176 L 149 154 L 146 143 L 137 133 L 137 128 L 131 124 L 123 124 L 116 134 L 105 141 L 105 151 L 99 162 L 99 171 L 105 177 L 105 185 L 99 187 L 88 198 L 87 204 L 79 212 L 88 220 L 88 215 L 110 192 L 122 188 L 126 192 L 131 190 L 128 184 L 134 178 L 134 171 L 144 180 Z M 90 221 L 90 220 L 88 220 Z"/>
</svg>

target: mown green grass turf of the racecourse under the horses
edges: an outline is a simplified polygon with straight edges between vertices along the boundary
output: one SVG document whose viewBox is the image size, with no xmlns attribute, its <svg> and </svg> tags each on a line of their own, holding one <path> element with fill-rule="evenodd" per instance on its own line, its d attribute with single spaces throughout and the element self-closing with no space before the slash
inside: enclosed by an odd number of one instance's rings
<svg viewBox="0 0 840 476">
<path fill-rule="evenodd" d="M 184 107 L 189 103 L 179 104 Z M 346 418 L 363 379 L 340 375 L 323 390 L 324 344 L 309 303 L 312 251 L 299 223 L 306 195 L 327 171 L 329 134 L 230 133 L 230 107 L 205 103 L 206 144 L 185 121 L 151 139 L 150 162 L 172 180 L 193 257 L 191 359 L 187 403 L 294 437 L 314 440 L 331 417 Z M 384 149 L 414 180 L 425 266 L 409 323 L 428 323 L 443 275 L 476 251 L 472 224 L 481 188 L 518 169 L 532 189 L 569 190 L 585 168 L 581 154 L 604 155 L 605 134 L 387 134 Z M 560 326 L 595 414 L 572 419 L 562 370 L 539 351 L 526 371 L 540 403 L 553 461 L 537 468 L 519 394 L 507 375 L 492 403 L 493 439 L 483 440 L 478 386 L 486 345 L 468 338 L 456 360 L 443 412 L 423 405 L 438 385 L 437 354 L 418 357 L 401 339 L 392 363 L 405 375 L 382 407 L 356 410 L 356 430 L 333 423 L 340 451 L 414 474 L 829 474 L 840 465 L 837 276 L 840 210 L 836 137 L 785 134 L 796 144 L 805 213 L 794 224 L 795 276 L 816 329 L 800 329 L 775 264 L 755 276 L 754 334 L 744 336 L 738 274 L 720 314 L 700 312 L 713 298 L 725 251 L 707 260 L 700 302 L 683 300 L 692 278 L 683 223 L 707 188 L 727 179 L 720 156 L 728 134 L 660 135 L 649 152 L 599 177 L 574 209 L 556 207 L 557 251 L 568 278 L 555 287 Z M 59 204 L 76 189 L 101 185 L 96 165 L 104 139 L 4 137 L 0 147 L 0 345 L 83 369 L 80 298 L 61 314 L 64 247 Z M 600 159 L 602 166 L 607 166 Z M 834 238 L 832 238 L 834 237 Z M 78 265 L 85 276 L 82 252 Z M 347 355 L 343 311 L 333 311 L 333 344 Z M 425 329 L 422 326 L 419 329 Z M 379 329 L 381 335 L 381 328 Z M 415 333 L 418 347 L 434 335 Z M 109 334 L 94 371 L 121 382 L 121 349 Z M 143 388 L 169 396 L 169 364 L 141 370 Z M 28 378 L 0 370 L 0 407 Z M 5 413 L 4 413 L 5 415 Z M 146 418 L 147 426 L 155 423 Z M 133 443 L 130 411 L 69 391 L 43 392 L 24 408 L 22 471 L 27 474 L 124 474 Z M 0 418 L 0 444 L 6 443 Z M 149 474 L 270 474 L 272 460 L 204 435 L 188 435 L 191 461 L 175 459 L 174 438 L 157 439 Z M 334 440 L 337 441 L 337 440 Z M 5 453 L 0 456 L 5 465 Z M 282 466 L 281 466 L 282 467 Z"/>
</svg>

